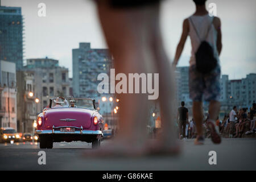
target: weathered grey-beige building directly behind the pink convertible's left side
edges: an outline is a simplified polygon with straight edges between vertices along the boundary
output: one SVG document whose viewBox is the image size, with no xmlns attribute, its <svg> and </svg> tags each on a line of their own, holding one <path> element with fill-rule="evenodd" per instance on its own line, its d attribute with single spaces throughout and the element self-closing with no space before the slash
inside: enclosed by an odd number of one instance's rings
<svg viewBox="0 0 256 182">
<path fill-rule="evenodd" d="M 58 60 L 27 59 L 24 71 L 34 78 L 34 96 L 39 99 L 36 113 L 49 105 L 50 98 L 70 96 L 68 68 L 60 67 Z"/>
</svg>

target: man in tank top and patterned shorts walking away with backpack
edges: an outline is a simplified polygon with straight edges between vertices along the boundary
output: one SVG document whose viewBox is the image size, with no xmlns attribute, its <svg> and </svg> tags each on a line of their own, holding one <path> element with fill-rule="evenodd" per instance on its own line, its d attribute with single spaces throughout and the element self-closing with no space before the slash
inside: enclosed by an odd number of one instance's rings
<svg viewBox="0 0 256 182">
<path fill-rule="evenodd" d="M 187 37 L 191 38 L 192 52 L 189 61 L 189 95 L 193 100 L 197 138 L 195 144 L 204 144 L 203 134 L 203 96 L 209 101 L 207 126 L 213 143 L 221 143 L 215 121 L 220 111 L 220 60 L 221 20 L 210 16 L 205 9 L 206 0 L 193 0 L 196 12 L 183 22 L 183 32 L 177 45 L 174 65 L 176 66 L 183 51 Z"/>
</svg>

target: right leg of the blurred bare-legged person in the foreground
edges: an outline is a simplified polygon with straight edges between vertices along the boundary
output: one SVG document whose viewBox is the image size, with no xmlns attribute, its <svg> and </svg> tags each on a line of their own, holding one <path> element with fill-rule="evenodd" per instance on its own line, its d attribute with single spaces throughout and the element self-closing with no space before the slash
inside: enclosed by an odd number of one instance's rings
<svg viewBox="0 0 256 182">
<path fill-rule="evenodd" d="M 163 129 L 156 147 L 159 147 L 159 150 L 163 152 L 164 150 L 179 152 L 177 133 L 174 125 L 175 75 L 170 59 L 168 59 L 163 47 L 159 22 L 159 5 L 151 7 L 151 10 L 147 11 L 147 13 L 148 24 L 150 24 L 150 48 L 154 53 L 153 65 L 156 68 L 156 72 L 159 73 L 159 104 Z"/>
</svg>

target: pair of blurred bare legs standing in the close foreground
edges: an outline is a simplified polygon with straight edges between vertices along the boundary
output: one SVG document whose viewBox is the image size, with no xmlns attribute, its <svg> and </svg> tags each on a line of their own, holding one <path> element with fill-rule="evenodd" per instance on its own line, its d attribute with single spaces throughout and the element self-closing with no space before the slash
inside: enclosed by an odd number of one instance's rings
<svg viewBox="0 0 256 182">
<path fill-rule="evenodd" d="M 98 1 L 98 15 L 110 52 L 115 74 L 159 73 L 159 101 L 163 133 L 154 147 L 146 145 L 146 122 L 149 101 L 145 94 L 118 94 L 120 98 L 119 131 L 112 153 L 154 150 L 172 152 L 177 149 L 174 129 L 174 75 L 164 52 L 160 28 L 159 6 L 136 9 L 113 9 L 106 1 Z M 139 149 L 139 150 L 138 150 Z M 106 150 L 106 149 L 105 149 Z M 108 152 L 111 150 L 108 150 Z M 176 150 L 177 151 L 177 150 Z M 179 151 L 179 150 L 178 150 Z M 107 153 L 108 153 L 107 152 Z"/>
</svg>

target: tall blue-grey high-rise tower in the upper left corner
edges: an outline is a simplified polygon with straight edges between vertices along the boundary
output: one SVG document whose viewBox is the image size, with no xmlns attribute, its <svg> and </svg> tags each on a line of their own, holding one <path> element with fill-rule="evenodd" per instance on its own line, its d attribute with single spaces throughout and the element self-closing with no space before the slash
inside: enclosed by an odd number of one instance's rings
<svg viewBox="0 0 256 182">
<path fill-rule="evenodd" d="M 23 68 L 23 18 L 20 7 L 0 6 L 0 60 Z"/>
</svg>

